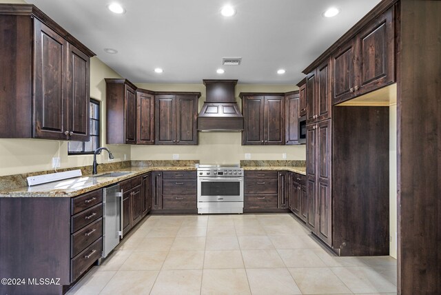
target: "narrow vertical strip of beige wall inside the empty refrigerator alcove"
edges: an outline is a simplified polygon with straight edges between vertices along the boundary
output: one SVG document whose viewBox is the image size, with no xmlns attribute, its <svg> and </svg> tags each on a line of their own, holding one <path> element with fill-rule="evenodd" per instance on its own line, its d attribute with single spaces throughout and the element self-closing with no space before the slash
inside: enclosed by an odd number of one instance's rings
<svg viewBox="0 0 441 295">
<path fill-rule="evenodd" d="M 389 255 L 397 258 L 397 104 L 389 106 Z"/>
</svg>

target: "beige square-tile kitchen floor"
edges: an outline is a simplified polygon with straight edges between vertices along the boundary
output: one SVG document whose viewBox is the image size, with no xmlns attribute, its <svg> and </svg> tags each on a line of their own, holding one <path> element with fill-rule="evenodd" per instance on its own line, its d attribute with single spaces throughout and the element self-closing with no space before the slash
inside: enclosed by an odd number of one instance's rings
<svg viewBox="0 0 441 295">
<path fill-rule="evenodd" d="M 396 294 L 396 260 L 335 256 L 291 214 L 148 216 L 68 294 Z"/>
</svg>

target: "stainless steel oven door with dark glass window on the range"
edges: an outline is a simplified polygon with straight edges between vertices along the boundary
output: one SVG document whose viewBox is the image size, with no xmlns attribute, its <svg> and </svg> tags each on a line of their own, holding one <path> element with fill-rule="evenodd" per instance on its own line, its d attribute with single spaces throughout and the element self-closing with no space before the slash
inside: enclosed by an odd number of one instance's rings
<svg viewBox="0 0 441 295">
<path fill-rule="evenodd" d="M 243 202 L 243 178 L 198 178 L 198 202 Z"/>
</svg>

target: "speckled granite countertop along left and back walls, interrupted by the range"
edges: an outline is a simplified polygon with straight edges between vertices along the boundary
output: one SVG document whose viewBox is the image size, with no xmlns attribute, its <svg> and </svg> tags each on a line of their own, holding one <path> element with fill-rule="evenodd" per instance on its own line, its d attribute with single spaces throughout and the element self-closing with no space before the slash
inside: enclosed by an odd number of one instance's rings
<svg viewBox="0 0 441 295">
<path fill-rule="evenodd" d="M 144 162 L 145 163 L 145 162 Z M 170 165 L 166 161 L 156 161 L 156 165 L 143 165 L 141 161 L 132 162 L 131 166 L 123 165 L 121 167 L 113 166 L 112 169 L 100 172 L 97 175 L 108 172 L 130 172 L 128 174 L 116 177 L 94 177 L 90 171 L 85 170 L 83 176 L 62 181 L 54 181 L 52 183 L 43 183 L 32 187 L 21 184 L 18 187 L 8 188 L 0 186 L 0 197 L 72 197 L 85 194 L 92 190 L 130 179 L 151 171 L 196 171 L 196 166 L 192 161 L 182 161 L 182 165 L 176 162 L 176 165 Z M 152 164 L 152 163 L 149 163 Z M 168 164 L 168 165 L 167 165 Z M 257 170 L 273 170 L 273 171 L 290 171 L 298 174 L 306 175 L 306 167 L 298 165 L 303 164 L 288 161 L 241 161 L 240 163 L 245 171 Z M 285 165 L 284 165 L 285 164 Z M 289 165 L 286 165 L 289 164 Z M 296 164 L 296 165 L 293 165 Z M 130 164 L 129 164 L 130 165 Z M 24 177 L 22 175 L 22 177 Z M 14 176 L 9 177 L 14 179 Z"/>
</svg>

